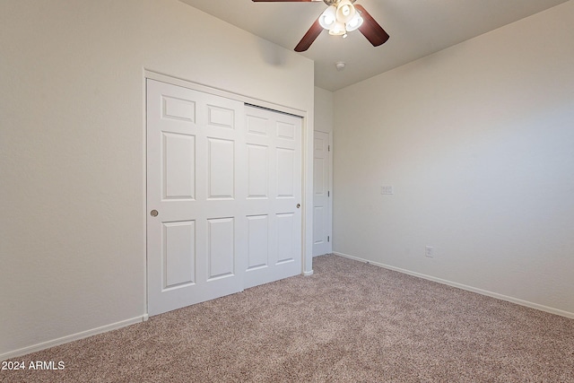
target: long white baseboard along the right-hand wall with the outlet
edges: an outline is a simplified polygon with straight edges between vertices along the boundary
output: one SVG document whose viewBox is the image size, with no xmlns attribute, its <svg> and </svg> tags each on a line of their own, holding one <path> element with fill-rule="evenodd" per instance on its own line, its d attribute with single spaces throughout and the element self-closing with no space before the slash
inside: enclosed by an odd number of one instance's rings
<svg viewBox="0 0 574 383">
<path fill-rule="evenodd" d="M 574 319 L 574 312 L 564 311 L 561 309 L 554 309 L 554 308 L 551 308 L 548 306 L 540 305 L 538 303 L 529 302 L 527 300 L 519 300 L 517 298 L 509 297 L 507 295 L 502 295 L 502 294 L 499 294 L 497 292 L 489 292 L 489 291 L 486 291 L 483 289 L 477 289 L 476 287 L 467 286 L 467 285 L 462 284 L 462 283 L 451 282 L 451 281 L 448 281 L 446 279 L 436 278 L 436 277 L 431 276 L 431 275 L 415 273 L 415 272 L 410 271 L 410 270 L 405 270 L 405 269 L 402 269 L 399 267 L 395 267 L 395 266 L 391 266 L 391 265 L 385 265 L 385 264 L 381 264 L 378 262 L 373 262 L 373 261 L 370 261 L 369 259 L 363 259 L 360 257 L 353 257 L 353 256 L 350 256 L 348 254 L 338 253 L 336 251 L 334 251 L 333 254 L 335 254 L 335 256 L 354 259 L 356 261 L 369 263 L 370 265 L 376 265 L 376 266 L 383 267 L 383 268 L 386 268 L 388 270 L 393 270 L 393 271 L 396 271 L 399 273 L 413 275 L 413 276 L 416 276 L 416 277 L 419 277 L 422 279 L 427 279 L 427 280 L 432 281 L 432 282 L 447 284 L 448 286 L 457 287 L 458 289 L 466 290 L 468 292 L 476 292 L 478 294 L 486 295 L 486 296 L 489 296 L 491 298 L 496 298 L 498 300 L 506 300 L 506 301 L 509 301 L 511 303 L 516 303 L 517 305 L 526 306 L 526 307 L 531 308 L 531 309 L 539 309 L 541 311 L 549 312 L 551 314 L 560 315 L 561 317 Z"/>
</svg>

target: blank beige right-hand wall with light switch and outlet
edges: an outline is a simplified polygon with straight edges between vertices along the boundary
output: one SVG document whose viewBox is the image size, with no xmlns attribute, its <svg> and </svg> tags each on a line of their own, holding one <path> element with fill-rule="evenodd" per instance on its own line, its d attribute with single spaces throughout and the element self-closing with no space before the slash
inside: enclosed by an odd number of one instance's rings
<svg viewBox="0 0 574 383">
<path fill-rule="evenodd" d="M 336 91 L 334 250 L 574 318 L 572 21 L 574 1 Z"/>
</svg>

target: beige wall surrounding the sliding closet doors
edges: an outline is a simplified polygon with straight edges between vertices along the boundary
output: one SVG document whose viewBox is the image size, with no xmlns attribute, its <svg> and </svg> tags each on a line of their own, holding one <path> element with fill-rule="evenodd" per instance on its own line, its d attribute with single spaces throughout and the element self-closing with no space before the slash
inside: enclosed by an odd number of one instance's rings
<svg viewBox="0 0 574 383">
<path fill-rule="evenodd" d="M 2 1 L 0 47 L 0 359 L 146 312 L 144 70 L 313 130 L 312 61 L 175 0 Z"/>
</svg>

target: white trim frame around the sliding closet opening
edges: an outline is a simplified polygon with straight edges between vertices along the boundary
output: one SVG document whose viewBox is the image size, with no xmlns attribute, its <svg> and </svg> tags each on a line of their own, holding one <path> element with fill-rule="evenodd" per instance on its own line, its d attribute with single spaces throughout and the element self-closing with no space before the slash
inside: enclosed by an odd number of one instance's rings
<svg viewBox="0 0 574 383">
<path fill-rule="evenodd" d="M 272 101 L 260 100 L 249 97 L 244 94 L 226 91 L 224 89 L 213 88 L 203 83 L 194 83 L 182 78 L 174 77 L 168 74 L 161 74 L 152 70 L 143 69 L 143 185 L 147 185 L 147 80 L 156 80 L 161 83 L 170 83 L 172 85 L 182 86 L 194 91 L 203 91 L 215 96 L 224 97 L 231 100 L 237 100 L 245 104 L 272 109 L 278 112 L 291 114 L 302 118 L 301 121 L 301 274 L 313 274 L 313 113 L 312 110 L 301 110 L 291 108 L 286 105 L 277 104 Z M 143 232 L 145 243 L 145 312 L 148 312 L 148 263 L 147 263 L 147 187 L 143 189 Z"/>
</svg>

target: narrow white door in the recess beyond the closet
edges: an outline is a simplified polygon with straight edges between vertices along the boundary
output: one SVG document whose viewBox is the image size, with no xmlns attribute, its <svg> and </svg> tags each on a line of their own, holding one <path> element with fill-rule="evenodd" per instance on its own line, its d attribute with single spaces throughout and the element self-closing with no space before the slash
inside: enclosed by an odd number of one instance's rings
<svg viewBox="0 0 574 383">
<path fill-rule="evenodd" d="M 315 131 L 313 143 L 313 257 L 331 252 L 329 134 Z"/>
</svg>

